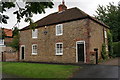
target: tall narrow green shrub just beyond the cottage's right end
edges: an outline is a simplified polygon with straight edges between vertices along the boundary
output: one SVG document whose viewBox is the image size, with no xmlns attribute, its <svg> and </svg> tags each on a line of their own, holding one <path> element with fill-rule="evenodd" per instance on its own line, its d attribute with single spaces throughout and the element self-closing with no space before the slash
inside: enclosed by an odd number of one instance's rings
<svg viewBox="0 0 120 80">
<path fill-rule="evenodd" d="M 109 57 L 114 57 L 113 55 L 113 41 L 112 41 L 112 34 L 110 33 L 110 30 L 107 31 L 108 36 L 108 50 L 109 50 Z"/>
</svg>

